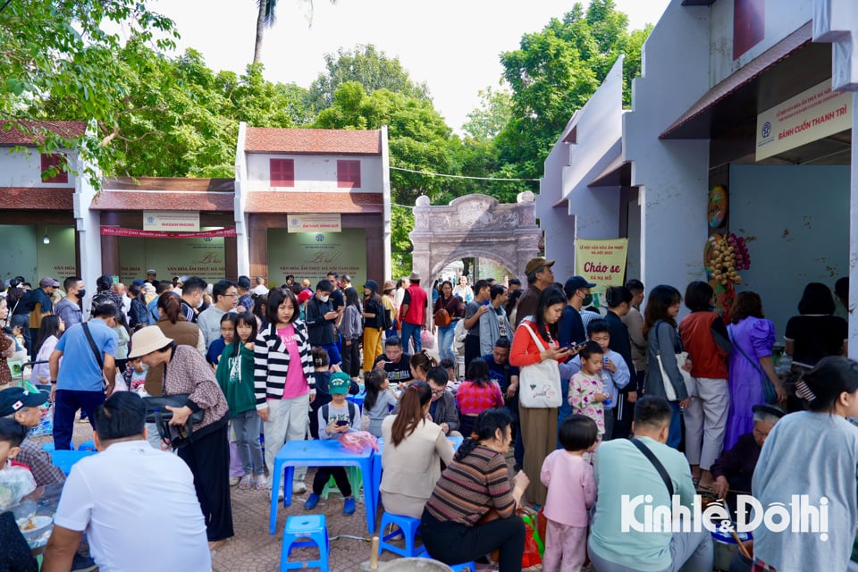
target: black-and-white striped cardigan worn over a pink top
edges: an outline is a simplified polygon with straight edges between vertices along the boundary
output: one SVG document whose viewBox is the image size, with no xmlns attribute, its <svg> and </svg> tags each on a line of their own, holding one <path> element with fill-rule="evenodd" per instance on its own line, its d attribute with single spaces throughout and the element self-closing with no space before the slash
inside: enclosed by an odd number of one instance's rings
<svg viewBox="0 0 858 572">
<path fill-rule="evenodd" d="M 298 349 L 301 360 L 298 366 L 303 366 L 307 377 L 310 393 L 315 393 L 315 377 L 313 357 L 310 355 L 310 343 L 307 340 L 307 324 L 296 320 L 292 323 L 295 336 L 298 338 Z M 254 346 L 254 375 L 253 385 L 257 397 L 257 409 L 268 407 L 266 400 L 281 400 L 286 386 L 286 373 L 290 367 L 289 349 L 277 335 L 277 325 L 268 324 L 257 335 Z"/>
</svg>

